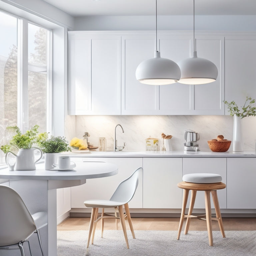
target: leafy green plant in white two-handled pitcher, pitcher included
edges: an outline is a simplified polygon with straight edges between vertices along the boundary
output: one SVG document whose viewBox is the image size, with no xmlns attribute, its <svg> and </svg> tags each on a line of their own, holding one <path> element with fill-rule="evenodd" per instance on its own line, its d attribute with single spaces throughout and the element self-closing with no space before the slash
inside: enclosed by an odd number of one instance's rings
<svg viewBox="0 0 256 256">
<path fill-rule="evenodd" d="M 5 161 L 10 170 L 36 169 L 35 163 L 38 162 L 43 155 L 41 149 L 32 147 L 37 139 L 38 128 L 39 126 L 35 125 L 24 134 L 21 133 L 18 126 L 8 126 L 6 128 L 7 131 L 13 133 L 13 136 L 9 143 L 1 145 L 0 149 L 6 154 Z M 16 151 L 17 154 L 13 153 L 11 150 Z M 36 161 L 34 156 L 35 150 L 39 150 L 41 153 L 40 157 Z M 13 165 L 8 161 L 10 154 L 13 154 L 16 157 L 16 161 Z"/>
</svg>

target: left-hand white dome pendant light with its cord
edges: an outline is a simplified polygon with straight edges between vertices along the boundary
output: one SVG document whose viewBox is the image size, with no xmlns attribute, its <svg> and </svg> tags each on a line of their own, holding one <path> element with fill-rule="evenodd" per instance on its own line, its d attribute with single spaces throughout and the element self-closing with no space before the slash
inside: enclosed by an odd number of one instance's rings
<svg viewBox="0 0 256 256">
<path fill-rule="evenodd" d="M 156 49 L 154 58 L 142 61 L 136 69 L 136 79 L 143 84 L 173 84 L 180 79 L 180 68 L 172 60 L 161 58 L 157 51 L 157 0 L 156 0 Z"/>
</svg>

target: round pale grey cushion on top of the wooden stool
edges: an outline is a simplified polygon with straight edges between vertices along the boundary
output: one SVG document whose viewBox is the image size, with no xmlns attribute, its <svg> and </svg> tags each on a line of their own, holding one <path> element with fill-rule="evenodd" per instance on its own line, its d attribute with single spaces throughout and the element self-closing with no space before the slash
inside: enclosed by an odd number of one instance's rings
<svg viewBox="0 0 256 256">
<path fill-rule="evenodd" d="M 222 177 L 214 173 L 190 173 L 185 174 L 182 180 L 190 183 L 218 183 L 222 181 Z"/>
</svg>

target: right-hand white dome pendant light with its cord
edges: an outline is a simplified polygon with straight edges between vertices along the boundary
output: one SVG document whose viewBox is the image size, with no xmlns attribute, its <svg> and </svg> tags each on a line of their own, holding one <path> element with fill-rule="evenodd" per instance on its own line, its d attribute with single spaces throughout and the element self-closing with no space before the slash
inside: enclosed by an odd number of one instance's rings
<svg viewBox="0 0 256 256">
<path fill-rule="evenodd" d="M 207 84 L 214 82 L 218 76 L 218 69 L 207 59 L 198 58 L 195 41 L 195 0 L 194 0 L 194 51 L 190 58 L 178 62 L 181 70 L 181 84 Z"/>
</svg>

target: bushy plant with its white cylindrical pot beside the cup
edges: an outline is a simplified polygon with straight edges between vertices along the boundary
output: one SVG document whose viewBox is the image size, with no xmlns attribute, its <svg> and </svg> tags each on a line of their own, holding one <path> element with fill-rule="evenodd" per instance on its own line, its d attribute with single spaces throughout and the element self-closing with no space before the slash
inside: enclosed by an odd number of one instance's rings
<svg viewBox="0 0 256 256">
<path fill-rule="evenodd" d="M 48 138 L 46 132 L 38 135 L 36 143 L 45 154 L 45 170 L 53 168 L 52 165 L 57 163 L 59 153 L 71 151 L 65 137 L 51 135 Z"/>
</svg>

